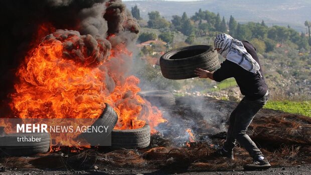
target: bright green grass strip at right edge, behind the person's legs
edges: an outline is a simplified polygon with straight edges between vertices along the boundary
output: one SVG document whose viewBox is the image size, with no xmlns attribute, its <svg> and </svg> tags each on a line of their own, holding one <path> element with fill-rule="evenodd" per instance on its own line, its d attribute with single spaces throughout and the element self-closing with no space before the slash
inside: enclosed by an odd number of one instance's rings
<svg viewBox="0 0 311 175">
<path fill-rule="evenodd" d="M 311 101 L 268 101 L 264 108 L 311 117 Z"/>
</svg>

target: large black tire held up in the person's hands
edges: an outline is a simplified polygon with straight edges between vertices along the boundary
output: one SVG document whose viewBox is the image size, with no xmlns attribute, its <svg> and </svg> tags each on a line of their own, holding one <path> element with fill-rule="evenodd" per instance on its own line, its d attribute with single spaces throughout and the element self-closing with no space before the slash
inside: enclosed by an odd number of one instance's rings
<svg viewBox="0 0 311 175">
<path fill-rule="evenodd" d="M 209 45 L 182 47 L 167 52 L 160 58 L 162 75 L 172 80 L 197 77 L 194 70 L 214 71 L 219 66 L 217 51 Z"/>
</svg>

